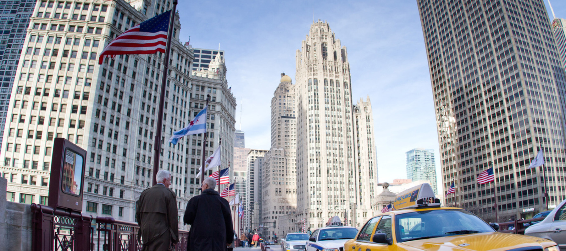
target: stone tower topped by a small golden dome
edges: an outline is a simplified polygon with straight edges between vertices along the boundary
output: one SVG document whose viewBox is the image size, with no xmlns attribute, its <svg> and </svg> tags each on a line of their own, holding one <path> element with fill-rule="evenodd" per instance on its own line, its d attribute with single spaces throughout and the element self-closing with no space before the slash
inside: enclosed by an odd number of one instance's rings
<svg viewBox="0 0 566 251">
<path fill-rule="evenodd" d="M 273 232 L 282 236 L 272 222 L 294 212 L 297 207 L 297 117 L 295 85 L 291 77 L 281 73 L 281 81 L 271 98 L 271 149 L 265 154 L 261 170 L 261 222 L 263 235 L 271 239 Z M 268 223 L 269 222 L 269 223 Z"/>
</svg>

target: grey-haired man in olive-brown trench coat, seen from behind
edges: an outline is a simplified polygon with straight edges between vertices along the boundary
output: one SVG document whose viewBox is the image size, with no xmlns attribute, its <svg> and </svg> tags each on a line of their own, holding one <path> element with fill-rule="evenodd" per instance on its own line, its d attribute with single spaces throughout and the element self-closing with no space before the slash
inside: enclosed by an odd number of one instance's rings
<svg viewBox="0 0 566 251">
<path fill-rule="evenodd" d="M 136 202 L 143 251 L 167 251 L 179 240 L 177 198 L 170 184 L 171 172 L 159 170 L 157 184 L 145 189 Z"/>
</svg>

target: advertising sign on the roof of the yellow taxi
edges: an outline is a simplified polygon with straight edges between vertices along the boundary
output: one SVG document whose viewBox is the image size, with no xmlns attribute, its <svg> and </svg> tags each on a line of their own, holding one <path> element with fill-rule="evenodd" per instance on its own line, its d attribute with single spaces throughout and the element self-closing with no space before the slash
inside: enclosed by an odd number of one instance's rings
<svg viewBox="0 0 566 251">
<path fill-rule="evenodd" d="M 436 198 L 428 183 L 417 185 L 397 194 L 393 202 L 393 210 L 416 207 L 438 207 L 440 200 Z"/>
</svg>

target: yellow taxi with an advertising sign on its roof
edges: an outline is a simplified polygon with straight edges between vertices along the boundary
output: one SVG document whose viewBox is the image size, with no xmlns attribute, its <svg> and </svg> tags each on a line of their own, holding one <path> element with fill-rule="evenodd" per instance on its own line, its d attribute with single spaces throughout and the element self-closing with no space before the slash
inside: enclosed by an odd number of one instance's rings
<svg viewBox="0 0 566 251">
<path fill-rule="evenodd" d="M 398 194 L 392 210 L 368 220 L 344 251 L 560 251 L 553 241 L 496 232 L 468 210 L 441 207 L 429 184 Z"/>
</svg>

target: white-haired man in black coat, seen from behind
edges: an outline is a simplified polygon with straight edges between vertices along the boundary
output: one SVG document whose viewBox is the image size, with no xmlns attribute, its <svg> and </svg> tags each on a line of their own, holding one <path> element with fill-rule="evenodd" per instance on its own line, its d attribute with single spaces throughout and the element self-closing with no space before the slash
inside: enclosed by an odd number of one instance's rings
<svg viewBox="0 0 566 251">
<path fill-rule="evenodd" d="M 191 225 L 187 250 L 226 250 L 234 239 L 228 201 L 214 191 L 216 180 L 206 178 L 202 193 L 188 201 L 183 221 Z"/>
</svg>

